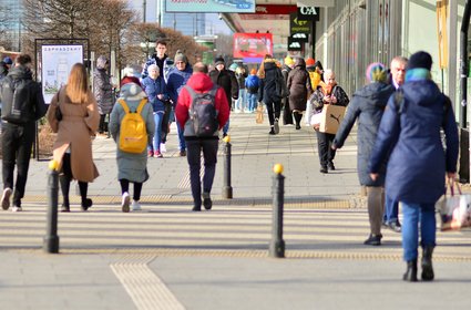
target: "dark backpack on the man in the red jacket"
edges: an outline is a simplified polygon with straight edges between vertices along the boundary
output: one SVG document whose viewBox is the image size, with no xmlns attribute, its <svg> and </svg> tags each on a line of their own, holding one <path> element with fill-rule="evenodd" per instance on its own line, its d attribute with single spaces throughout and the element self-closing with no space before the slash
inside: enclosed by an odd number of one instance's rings
<svg viewBox="0 0 471 310">
<path fill-rule="evenodd" d="M 216 106 L 214 105 L 217 85 L 213 85 L 211 91 L 205 93 L 196 93 L 188 85 L 185 85 L 185 89 L 192 99 L 188 122 L 191 122 L 190 130 L 193 130 L 193 133 L 187 132 L 187 125 L 185 124 L 185 135 L 197 137 L 214 136 L 219 126 Z"/>
</svg>

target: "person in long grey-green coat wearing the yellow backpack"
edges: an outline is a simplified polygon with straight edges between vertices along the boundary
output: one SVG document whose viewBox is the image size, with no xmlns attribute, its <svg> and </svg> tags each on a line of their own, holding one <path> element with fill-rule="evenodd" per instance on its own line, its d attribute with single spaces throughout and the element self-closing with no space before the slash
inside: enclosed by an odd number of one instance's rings
<svg viewBox="0 0 471 310">
<path fill-rule="evenodd" d="M 125 79 L 129 79 L 129 82 L 122 85 L 119 101 L 124 101 L 130 107 L 130 111 L 136 111 L 139 104 L 143 100 L 146 102 L 141 111 L 141 116 L 145 122 L 147 141 L 152 142 L 155 134 L 155 122 L 152 105 L 146 101 L 147 95 L 141 85 L 134 81 L 133 76 L 126 76 Z M 144 182 L 149 179 L 149 173 L 146 149 L 142 153 L 127 153 L 121 151 L 119 147 L 120 128 L 124 115 L 125 112 L 123 106 L 116 102 L 110 115 L 110 133 L 116 143 L 117 180 L 121 186 L 121 210 L 123 213 L 129 213 L 130 210 L 141 210 L 141 204 L 139 202 L 141 199 L 142 186 Z M 130 183 L 134 184 L 132 203 Z"/>
</svg>

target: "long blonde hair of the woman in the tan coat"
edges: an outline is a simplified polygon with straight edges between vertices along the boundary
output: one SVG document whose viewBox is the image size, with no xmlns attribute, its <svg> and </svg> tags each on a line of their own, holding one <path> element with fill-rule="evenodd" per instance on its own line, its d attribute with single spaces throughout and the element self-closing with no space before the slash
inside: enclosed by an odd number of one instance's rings
<svg viewBox="0 0 471 310">
<path fill-rule="evenodd" d="M 85 103 L 89 99 L 89 78 L 82 63 L 72 65 L 65 93 L 73 103 Z"/>
</svg>

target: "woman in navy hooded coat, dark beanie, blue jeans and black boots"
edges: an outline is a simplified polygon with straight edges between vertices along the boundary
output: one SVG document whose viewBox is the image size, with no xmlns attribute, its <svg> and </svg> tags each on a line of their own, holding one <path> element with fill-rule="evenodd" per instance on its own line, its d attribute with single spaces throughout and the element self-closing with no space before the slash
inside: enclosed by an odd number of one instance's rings
<svg viewBox="0 0 471 310">
<path fill-rule="evenodd" d="M 459 155 L 452 104 L 431 80 L 431 66 L 432 58 L 427 52 L 410 56 L 406 83 L 388 101 L 368 166 L 376 182 L 381 178 L 389 157 L 386 193 L 401 203 L 402 249 L 407 262 L 402 279 L 412 282 L 418 280 L 419 245 L 422 247 L 421 279 L 434 279 L 434 206 L 446 192 L 447 178 L 450 184 L 454 183 Z"/>
</svg>

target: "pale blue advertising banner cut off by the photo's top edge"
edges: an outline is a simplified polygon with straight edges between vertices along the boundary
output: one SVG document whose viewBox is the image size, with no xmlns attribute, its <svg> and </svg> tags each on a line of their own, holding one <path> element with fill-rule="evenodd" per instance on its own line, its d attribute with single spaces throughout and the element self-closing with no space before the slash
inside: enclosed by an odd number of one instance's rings
<svg viewBox="0 0 471 310">
<path fill-rule="evenodd" d="M 165 0 L 166 12 L 254 13 L 255 0 Z"/>
</svg>

